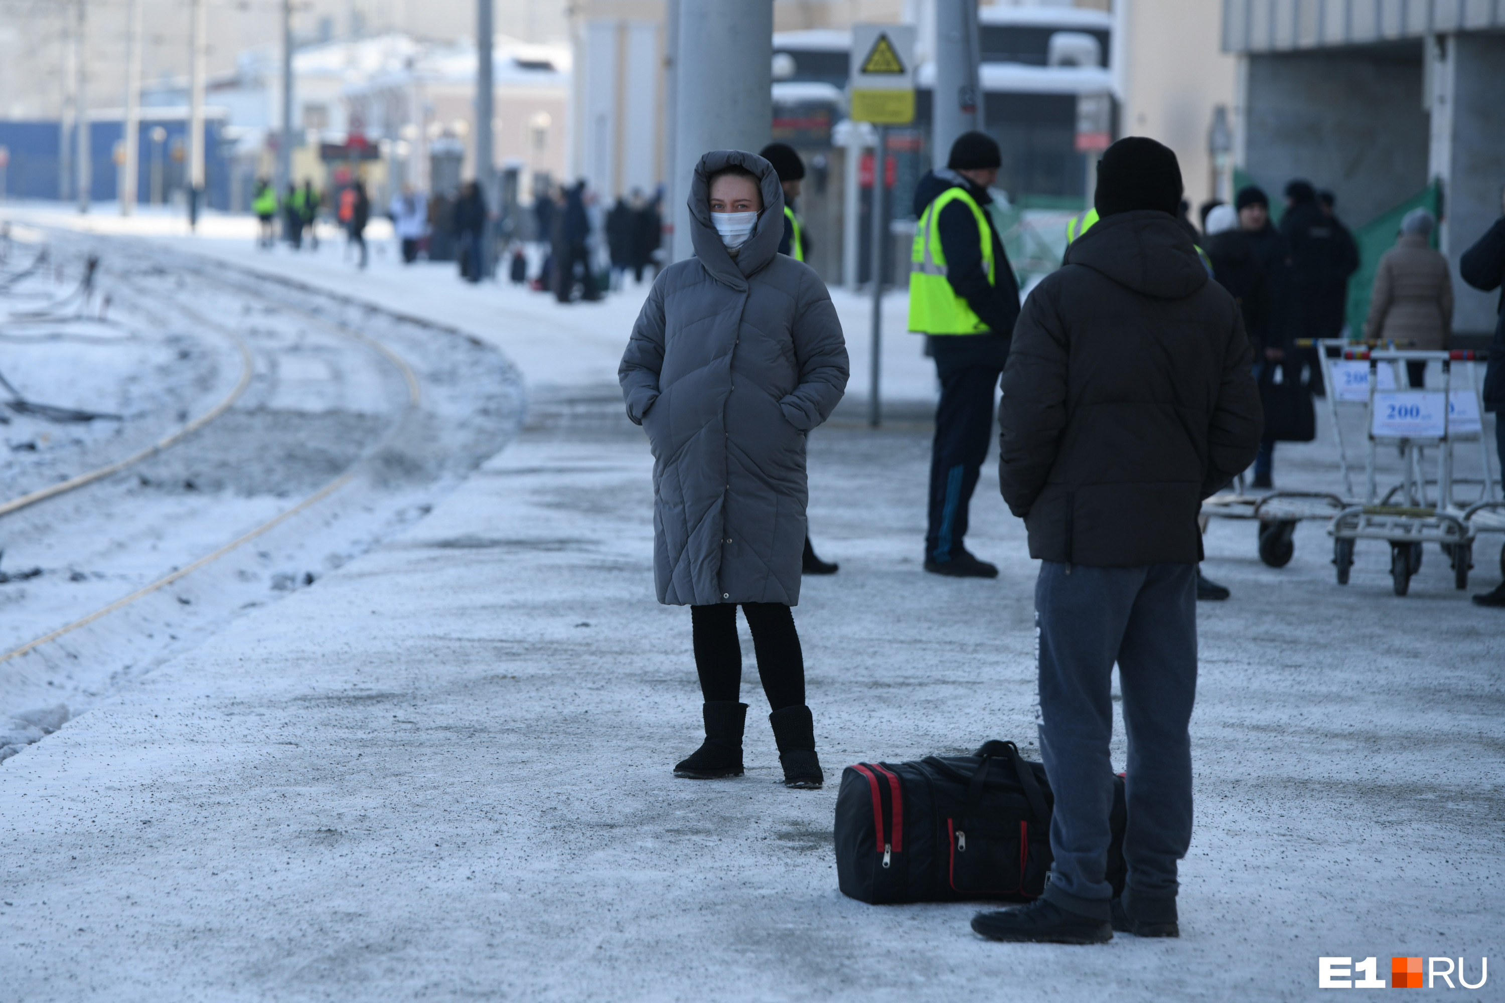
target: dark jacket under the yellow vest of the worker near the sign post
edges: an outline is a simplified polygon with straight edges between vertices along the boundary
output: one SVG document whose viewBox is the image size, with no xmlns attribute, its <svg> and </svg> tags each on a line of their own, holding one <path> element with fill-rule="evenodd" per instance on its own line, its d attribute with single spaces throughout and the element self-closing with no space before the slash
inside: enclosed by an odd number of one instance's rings
<svg viewBox="0 0 1505 1003">
<path fill-rule="evenodd" d="M 948 188 L 965 188 L 978 206 L 990 206 L 993 197 L 986 188 L 978 188 L 966 177 L 951 170 L 927 171 L 915 186 L 915 218 L 924 215 L 926 206 L 936 200 Z M 993 242 L 993 278 L 996 284 L 987 281 L 987 271 L 983 268 L 983 248 L 977 244 L 977 220 L 960 202 L 953 202 L 941 211 L 936 229 L 941 232 L 941 250 L 945 254 L 945 278 L 957 296 L 966 299 L 990 334 L 975 335 L 945 335 L 932 338 L 932 344 L 945 343 L 945 349 L 956 349 L 977 356 L 978 364 L 996 364 L 1002 367 L 1008 355 L 1008 338 L 1013 335 L 1014 322 L 1019 319 L 1019 284 L 1014 281 L 1013 265 L 1004 253 L 1004 242 L 993 227 L 993 218 L 987 215 L 987 233 Z M 951 352 L 954 353 L 954 352 Z M 939 356 L 938 356 L 939 358 Z"/>
</svg>

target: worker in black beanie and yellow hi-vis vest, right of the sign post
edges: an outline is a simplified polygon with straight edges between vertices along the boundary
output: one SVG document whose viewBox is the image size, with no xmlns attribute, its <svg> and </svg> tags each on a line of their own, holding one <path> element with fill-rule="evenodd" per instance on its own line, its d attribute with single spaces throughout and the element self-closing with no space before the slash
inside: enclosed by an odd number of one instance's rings
<svg viewBox="0 0 1505 1003">
<path fill-rule="evenodd" d="M 1019 319 L 1019 284 L 986 206 L 1002 153 L 983 132 L 965 132 L 942 170 L 915 189 L 909 265 L 909 329 L 929 338 L 941 377 L 930 454 L 926 570 L 996 577 L 963 546 L 972 489 L 993 435 L 993 394 Z"/>
</svg>

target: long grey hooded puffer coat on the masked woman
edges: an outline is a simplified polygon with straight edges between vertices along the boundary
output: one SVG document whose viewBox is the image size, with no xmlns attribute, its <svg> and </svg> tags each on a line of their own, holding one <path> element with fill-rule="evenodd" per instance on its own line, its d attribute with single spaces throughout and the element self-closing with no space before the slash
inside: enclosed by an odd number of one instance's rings
<svg viewBox="0 0 1505 1003">
<path fill-rule="evenodd" d="M 710 223 L 709 179 L 739 165 L 763 211 L 733 259 Z M 700 158 L 695 257 L 653 283 L 617 377 L 653 447 L 653 579 L 661 603 L 799 601 L 805 435 L 847 382 L 846 341 L 820 277 L 778 253 L 784 192 L 762 156 Z"/>
</svg>

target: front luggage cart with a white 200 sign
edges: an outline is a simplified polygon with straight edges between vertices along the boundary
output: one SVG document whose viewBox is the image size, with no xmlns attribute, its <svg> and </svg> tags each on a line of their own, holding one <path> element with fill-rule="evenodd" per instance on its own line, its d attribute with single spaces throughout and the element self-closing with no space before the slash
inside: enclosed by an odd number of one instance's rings
<svg viewBox="0 0 1505 1003">
<path fill-rule="evenodd" d="M 1451 352 L 1344 350 L 1344 361 L 1368 362 L 1370 450 L 1365 462 L 1365 501 L 1342 508 L 1327 528 L 1333 540 L 1332 562 L 1338 570 L 1339 585 L 1348 583 L 1356 543 L 1385 540 L 1391 544 L 1391 580 L 1397 595 L 1404 595 L 1410 588 L 1412 576 L 1421 570 L 1422 546 L 1428 541 L 1439 543 L 1452 558 L 1454 585 L 1467 588 L 1473 529 L 1463 511 L 1452 507 L 1451 498 L 1452 447 L 1458 439 L 1467 438 L 1470 429 L 1461 420 L 1449 421 L 1458 403 L 1452 394 L 1452 359 Z M 1401 362 L 1410 361 L 1440 362 L 1442 391 L 1409 386 L 1403 379 Z M 1382 364 L 1391 370 L 1385 382 L 1392 389 L 1382 386 Z M 1401 386 L 1406 389 L 1400 389 Z M 1473 398 L 1476 397 L 1475 391 Z M 1473 429 L 1479 429 L 1476 417 Z M 1376 480 L 1376 450 L 1380 444 L 1398 445 L 1404 462 L 1401 483 L 1386 492 L 1383 499 Z M 1422 472 L 1424 451 L 1428 448 L 1437 450 L 1436 504 L 1427 501 Z M 1345 465 L 1344 474 L 1347 477 Z"/>
</svg>

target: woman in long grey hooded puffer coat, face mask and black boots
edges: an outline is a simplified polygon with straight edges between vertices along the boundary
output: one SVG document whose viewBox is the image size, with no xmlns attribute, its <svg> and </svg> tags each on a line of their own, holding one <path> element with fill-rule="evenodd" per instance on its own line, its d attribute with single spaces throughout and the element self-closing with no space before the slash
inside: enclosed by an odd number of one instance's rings
<svg viewBox="0 0 1505 1003">
<path fill-rule="evenodd" d="M 706 153 L 689 192 L 695 257 L 653 283 L 617 376 L 653 447 L 653 579 L 689 606 L 706 741 L 676 776 L 742 776 L 742 651 L 752 630 L 784 783 L 817 788 L 790 606 L 805 543 L 805 435 L 841 400 L 841 323 L 816 272 L 778 253 L 784 192 L 742 150 Z"/>
</svg>

